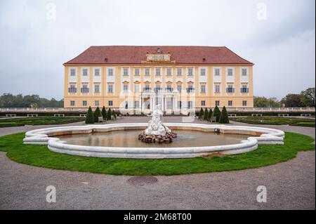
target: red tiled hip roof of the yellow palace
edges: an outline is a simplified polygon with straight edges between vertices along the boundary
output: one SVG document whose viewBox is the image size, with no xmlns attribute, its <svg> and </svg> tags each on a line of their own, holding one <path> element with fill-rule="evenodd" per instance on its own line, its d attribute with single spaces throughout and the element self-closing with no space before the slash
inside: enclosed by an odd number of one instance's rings
<svg viewBox="0 0 316 224">
<path fill-rule="evenodd" d="M 171 53 L 171 60 L 177 64 L 254 65 L 225 46 L 91 46 L 64 65 L 140 64 L 146 60 L 146 53 L 157 53 L 157 48 Z"/>
</svg>

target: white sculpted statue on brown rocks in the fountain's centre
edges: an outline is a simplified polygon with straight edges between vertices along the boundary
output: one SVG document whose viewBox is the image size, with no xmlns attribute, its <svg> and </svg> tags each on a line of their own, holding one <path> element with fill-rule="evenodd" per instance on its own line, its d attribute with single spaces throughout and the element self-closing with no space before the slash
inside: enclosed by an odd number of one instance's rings
<svg viewBox="0 0 316 224">
<path fill-rule="evenodd" d="M 152 119 L 148 122 L 147 129 L 138 135 L 138 139 L 145 143 L 171 143 L 177 134 L 171 131 L 167 126 L 162 124 L 161 105 L 154 108 L 151 116 Z"/>
</svg>

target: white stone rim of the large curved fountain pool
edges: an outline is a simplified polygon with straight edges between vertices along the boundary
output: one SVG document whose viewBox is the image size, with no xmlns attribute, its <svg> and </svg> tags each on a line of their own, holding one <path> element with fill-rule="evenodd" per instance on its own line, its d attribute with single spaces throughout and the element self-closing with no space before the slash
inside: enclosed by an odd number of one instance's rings
<svg viewBox="0 0 316 224">
<path fill-rule="evenodd" d="M 104 133 L 109 131 L 143 130 L 146 123 L 140 124 L 96 124 L 87 126 L 63 126 L 48 129 L 27 131 L 23 142 L 25 144 L 48 145 L 53 152 L 75 154 L 87 157 L 116 157 L 133 159 L 164 159 L 203 157 L 209 154 L 239 154 L 256 150 L 258 145 L 283 145 L 284 132 L 277 129 L 267 129 L 254 126 L 226 126 L 219 124 L 166 123 L 172 130 L 205 131 L 241 134 L 251 137 L 240 143 L 230 145 L 209 145 L 197 147 L 103 147 L 89 145 L 70 145 L 58 136 L 88 133 Z M 135 136 L 137 138 L 137 136 Z"/>
</svg>

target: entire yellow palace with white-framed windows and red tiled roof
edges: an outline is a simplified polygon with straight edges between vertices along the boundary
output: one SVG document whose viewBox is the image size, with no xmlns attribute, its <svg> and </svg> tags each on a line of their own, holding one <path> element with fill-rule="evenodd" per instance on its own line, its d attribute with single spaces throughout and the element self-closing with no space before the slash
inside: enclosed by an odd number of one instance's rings
<svg viewBox="0 0 316 224">
<path fill-rule="evenodd" d="M 63 65 L 68 108 L 254 107 L 254 63 L 225 46 L 91 46 Z"/>
</svg>

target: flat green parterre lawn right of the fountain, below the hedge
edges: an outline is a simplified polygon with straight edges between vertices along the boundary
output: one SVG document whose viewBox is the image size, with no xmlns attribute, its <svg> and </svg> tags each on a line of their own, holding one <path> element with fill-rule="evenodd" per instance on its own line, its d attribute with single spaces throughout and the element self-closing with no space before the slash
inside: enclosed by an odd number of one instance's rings
<svg viewBox="0 0 316 224">
<path fill-rule="evenodd" d="M 289 124 L 293 126 L 315 127 L 315 119 L 302 119 L 291 117 L 237 117 L 230 119 L 233 121 L 239 121 L 247 124 Z"/>
</svg>

